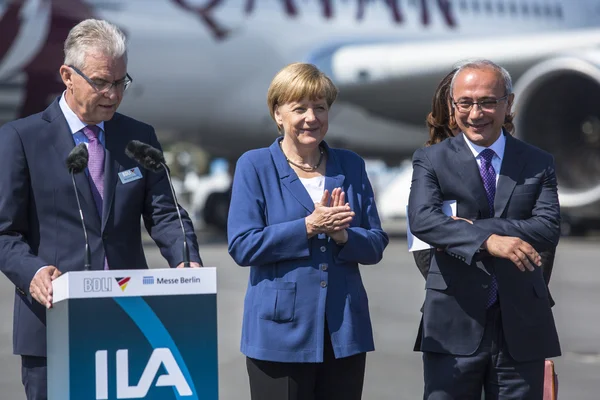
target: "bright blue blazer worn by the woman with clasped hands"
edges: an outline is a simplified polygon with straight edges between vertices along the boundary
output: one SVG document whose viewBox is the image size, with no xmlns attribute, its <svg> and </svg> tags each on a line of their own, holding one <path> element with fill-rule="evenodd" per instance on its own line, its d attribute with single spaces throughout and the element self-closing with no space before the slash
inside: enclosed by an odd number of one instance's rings
<svg viewBox="0 0 600 400">
<path fill-rule="evenodd" d="M 356 213 L 348 242 L 307 238 L 314 204 L 278 138 L 237 162 L 228 220 L 229 254 L 250 266 L 241 351 L 279 362 L 322 362 L 325 318 L 337 358 L 374 350 L 358 264 L 377 264 L 388 244 L 364 161 L 332 149 L 325 188 L 342 187 Z"/>
</svg>

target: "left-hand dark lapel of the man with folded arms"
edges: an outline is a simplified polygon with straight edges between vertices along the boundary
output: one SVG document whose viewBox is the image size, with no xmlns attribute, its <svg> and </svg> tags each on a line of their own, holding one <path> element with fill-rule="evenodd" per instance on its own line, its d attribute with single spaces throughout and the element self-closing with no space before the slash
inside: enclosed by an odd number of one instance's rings
<svg viewBox="0 0 600 400">
<path fill-rule="evenodd" d="M 477 166 L 477 160 L 473 156 L 473 152 L 469 149 L 469 145 L 465 141 L 464 134 L 459 135 L 452 140 L 452 145 L 456 151 L 456 161 L 458 163 L 456 172 L 460 175 L 461 182 L 468 188 L 472 188 L 471 194 L 476 200 L 481 215 L 489 215 L 489 205 L 487 195 Z M 450 171 L 450 173 L 453 173 Z"/>
</svg>

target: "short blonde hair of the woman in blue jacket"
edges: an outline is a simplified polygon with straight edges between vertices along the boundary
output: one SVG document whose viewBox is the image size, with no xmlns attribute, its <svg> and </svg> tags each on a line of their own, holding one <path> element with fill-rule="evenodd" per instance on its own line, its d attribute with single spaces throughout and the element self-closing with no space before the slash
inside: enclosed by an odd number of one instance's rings
<svg viewBox="0 0 600 400">
<path fill-rule="evenodd" d="M 316 66 L 307 63 L 293 63 L 275 75 L 267 91 L 267 105 L 271 118 L 275 119 L 275 108 L 306 97 L 311 100 L 324 98 L 331 107 L 338 95 L 338 89 L 331 79 Z M 281 127 L 277 125 L 281 131 Z"/>
</svg>

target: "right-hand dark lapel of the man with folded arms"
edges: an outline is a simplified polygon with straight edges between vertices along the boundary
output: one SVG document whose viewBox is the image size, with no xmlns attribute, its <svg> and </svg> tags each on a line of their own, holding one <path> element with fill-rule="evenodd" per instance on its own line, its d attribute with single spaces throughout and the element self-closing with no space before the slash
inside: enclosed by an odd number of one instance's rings
<svg viewBox="0 0 600 400">
<path fill-rule="evenodd" d="M 496 197 L 494 198 L 494 217 L 502 216 L 508 200 L 517 184 L 519 175 L 525 165 L 524 157 L 521 157 L 523 146 L 510 135 L 506 135 L 506 147 L 502 157 L 502 166 L 496 186 Z"/>
</svg>

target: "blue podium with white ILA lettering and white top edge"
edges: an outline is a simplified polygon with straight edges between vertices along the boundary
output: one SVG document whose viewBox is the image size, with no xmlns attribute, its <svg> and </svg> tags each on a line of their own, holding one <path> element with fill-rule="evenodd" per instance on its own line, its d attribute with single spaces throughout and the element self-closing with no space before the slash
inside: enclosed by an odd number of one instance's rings
<svg viewBox="0 0 600 400">
<path fill-rule="evenodd" d="M 216 400 L 215 268 L 68 272 L 46 313 L 49 400 Z"/>
</svg>

